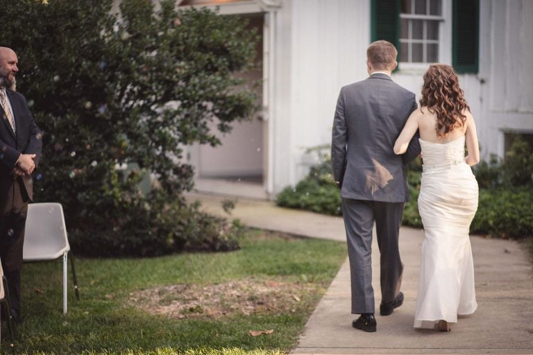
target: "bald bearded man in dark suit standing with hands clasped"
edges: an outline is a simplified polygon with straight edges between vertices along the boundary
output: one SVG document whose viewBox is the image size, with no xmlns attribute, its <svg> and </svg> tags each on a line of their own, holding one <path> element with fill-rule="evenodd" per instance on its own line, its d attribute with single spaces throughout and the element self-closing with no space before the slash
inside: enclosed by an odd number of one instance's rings
<svg viewBox="0 0 533 355">
<path fill-rule="evenodd" d="M 31 116 L 26 98 L 15 87 L 17 55 L 0 47 L 0 258 L 8 279 L 11 315 L 20 318 L 20 272 L 28 202 L 42 148 L 42 132 Z"/>
</svg>

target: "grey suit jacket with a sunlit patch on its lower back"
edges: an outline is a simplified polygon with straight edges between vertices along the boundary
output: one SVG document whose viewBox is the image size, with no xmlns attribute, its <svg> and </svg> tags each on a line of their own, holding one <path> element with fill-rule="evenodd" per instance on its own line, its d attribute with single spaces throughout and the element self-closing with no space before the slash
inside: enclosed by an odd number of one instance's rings
<svg viewBox="0 0 533 355">
<path fill-rule="evenodd" d="M 416 107 L 414 94 L 382 73 L 341 89 L 331 160 L 342 198 L 409 200 L 404 164 L 420 153 L 418 137 L 412 139 L 404 156 L 395 155 L 393 147 Z"/>
</svg>

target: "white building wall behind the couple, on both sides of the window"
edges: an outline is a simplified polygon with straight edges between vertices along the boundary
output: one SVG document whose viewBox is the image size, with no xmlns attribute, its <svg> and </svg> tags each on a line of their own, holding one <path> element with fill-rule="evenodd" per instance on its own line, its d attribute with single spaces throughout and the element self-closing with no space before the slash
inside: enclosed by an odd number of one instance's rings
<svg viewBox="0 0 533 355">
<path fill-rule="evenodd" d="M 273 40 L 271 115 L 272 169 L 278 193 L 296 184 L 312 163 L 305 148 L 330 144 L 339 89 L 366 78 L 370 43 L 369 0 L 282 0 Z M 451 64 L 451 2 L 439 60 Z M 482 155 L 503 154 L 504 130 L 533 132 L 533 1 L 480 1 L 480 71 L 459 76 L 477 123 Z M 416 67 L 416 66 L 415 66 Z M 420 97 L 427 67 L 394 73 L 394 80 Z"/>
</svg>

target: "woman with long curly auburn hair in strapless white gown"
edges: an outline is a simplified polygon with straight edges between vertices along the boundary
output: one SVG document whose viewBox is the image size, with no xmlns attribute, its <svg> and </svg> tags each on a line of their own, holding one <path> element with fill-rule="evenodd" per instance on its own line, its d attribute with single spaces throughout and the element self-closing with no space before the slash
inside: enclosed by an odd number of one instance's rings
<svg viewBox="0 0 533 355">
<path fill-rule="evenodd" d="M 470 107 L 452 67 L 430 65 L 420 104 L 394 145 L 394 153 L 403 154 L 420 132 L 423 173 L 418 211 L 425 239 L 414 327 L 450 331 L 458 314 L 477 308 L 468 230 L 478 192 L 471 166 L 479 162 L 480 149 Z"/>
</svg>

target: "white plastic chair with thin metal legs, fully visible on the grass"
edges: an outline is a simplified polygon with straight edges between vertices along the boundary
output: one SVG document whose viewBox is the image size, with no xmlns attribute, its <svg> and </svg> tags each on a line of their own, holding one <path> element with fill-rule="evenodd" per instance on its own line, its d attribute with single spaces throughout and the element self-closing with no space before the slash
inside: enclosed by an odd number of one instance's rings
<svg viewBox="0 0 533 355">
<path fill-rule="evenodd" d="M 24 261 L 51 261 L 63 259 L 63 314 L 67 314 L 67 254 L 70 245 L 63 207 L 56 202 L 31 203 L 28 205 L 26 231 L 24 232 Z M 78 280 L 74 258 L 70 257 L 74 291 L 78 295 Z"/>
</svg>

